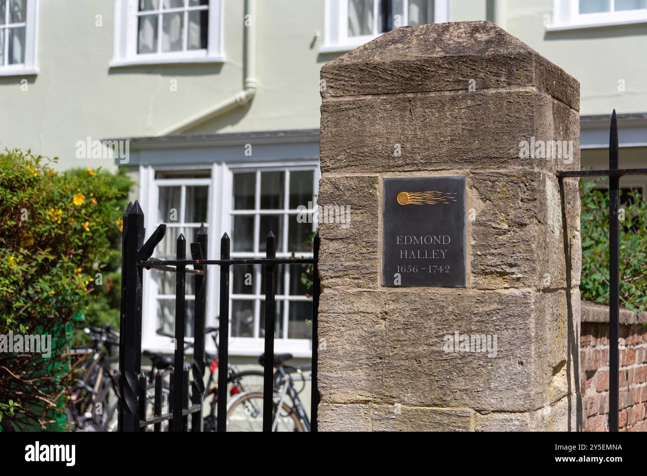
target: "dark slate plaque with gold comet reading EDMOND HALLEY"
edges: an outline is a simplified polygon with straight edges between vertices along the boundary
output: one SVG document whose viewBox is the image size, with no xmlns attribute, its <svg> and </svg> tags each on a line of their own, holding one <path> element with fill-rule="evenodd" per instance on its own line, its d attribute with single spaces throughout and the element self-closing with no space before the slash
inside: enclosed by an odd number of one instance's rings
<svg viewBox="0 0 647 476">
<path fill-rule="evenodd" d="M 465 177 L 384 179 L 382 285 L 465 287 Z"/>
</svg>

